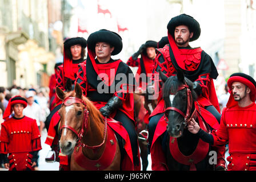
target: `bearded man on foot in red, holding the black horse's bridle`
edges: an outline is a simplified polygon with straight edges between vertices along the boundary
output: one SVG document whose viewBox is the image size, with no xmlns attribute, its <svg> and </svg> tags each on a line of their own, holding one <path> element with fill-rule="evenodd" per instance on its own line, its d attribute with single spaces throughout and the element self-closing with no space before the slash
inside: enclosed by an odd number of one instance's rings
<svg viewBox="0 0 256 182">
<path fill-rule="evenodd" d="M 244 73 L 234 73 L 227 81 L 231 90 L 227 106 L 222 111 L 221 125 L 211 134 L 194 120 L 188 125 L 191 133 L 214 146 L 229 143 L 227 169 L 230 171 L 256 170 L 256 82 Z"/>
</svg>

